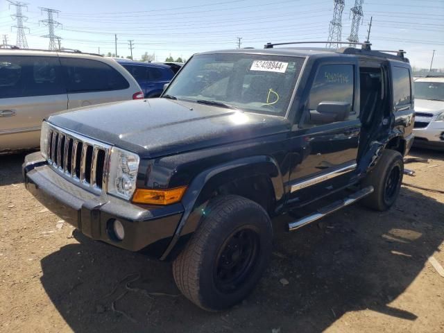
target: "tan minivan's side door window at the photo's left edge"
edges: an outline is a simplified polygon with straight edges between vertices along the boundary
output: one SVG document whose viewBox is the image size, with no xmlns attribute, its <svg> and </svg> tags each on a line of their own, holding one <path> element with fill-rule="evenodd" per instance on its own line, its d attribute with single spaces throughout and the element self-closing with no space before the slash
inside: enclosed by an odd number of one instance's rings
<svg viewBox="0 0 444 333">
<path fill-rule="evenodd" d="M 0 56 L 0 99 L 66 93 L 58 58 Z"/>
</svg>

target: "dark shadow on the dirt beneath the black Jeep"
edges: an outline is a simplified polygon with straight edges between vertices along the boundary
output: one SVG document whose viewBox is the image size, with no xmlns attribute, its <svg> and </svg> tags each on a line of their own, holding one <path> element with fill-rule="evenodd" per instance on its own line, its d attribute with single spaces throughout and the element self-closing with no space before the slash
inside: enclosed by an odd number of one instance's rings
<svg viewBox="0 0 444 333">
<path fill-rule="evenodd" d="M 74 234 L 80 244 L 41 260 L 41 282 L 74 332 L 321 332 L 362 309 L 413 323 L 417 314 L 391 302 L 444 240 L 442 216 L 442 203 L 403 187 L 388 212 L 355 205 L 299 232 L 278 232 L 258 287 L 220 313 L 200 310 L 183 296 L 149 295 L 179 293 L 169 264 L 80 232 Z M 280 229 L 288 221 L 275 222 Z"/>
</svg>

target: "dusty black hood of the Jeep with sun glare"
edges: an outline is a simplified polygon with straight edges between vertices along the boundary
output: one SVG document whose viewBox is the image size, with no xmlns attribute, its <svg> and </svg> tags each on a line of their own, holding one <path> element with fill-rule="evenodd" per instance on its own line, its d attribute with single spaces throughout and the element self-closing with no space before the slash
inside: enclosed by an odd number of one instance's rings
<svg viewBox="0 0 444 333">
<path fill-rule="evenodd" d="M 282 117 L 171 99 L 95 105 L 52 114 L 48 120 L 147 158 L 289 130 L 289 122 Z"/>
</svg>

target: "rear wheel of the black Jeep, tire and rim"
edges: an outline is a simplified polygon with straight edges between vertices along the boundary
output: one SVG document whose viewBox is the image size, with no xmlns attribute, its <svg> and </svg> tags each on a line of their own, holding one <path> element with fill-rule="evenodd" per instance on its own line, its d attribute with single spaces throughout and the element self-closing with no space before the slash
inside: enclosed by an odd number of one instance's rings
<svg viewBox="0 0 444 333">
<path fill-rule="evenodd" d="M 380 212 L 388 210 L 398 198 L 402 176 L 404 176 L 402 155 L 398 151 L 386 149 L 363 182 L 364 187 L 371 185 L 375 191 L 366 196 L 361 203 Z"/>
</svg>

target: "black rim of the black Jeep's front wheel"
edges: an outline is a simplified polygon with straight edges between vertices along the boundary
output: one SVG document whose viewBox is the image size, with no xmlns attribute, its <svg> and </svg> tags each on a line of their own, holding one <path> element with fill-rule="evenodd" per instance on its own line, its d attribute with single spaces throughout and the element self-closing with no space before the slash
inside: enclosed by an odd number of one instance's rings
<svg viewBox="0 0 444 333">
<path fill-rule="evenodd" d="M 228 237 L 216 259 L 214 282 L 223 293 L 237 291 L 253 272 L 259 254 L 259 235 L 243 228 Z"/>
</svg>

